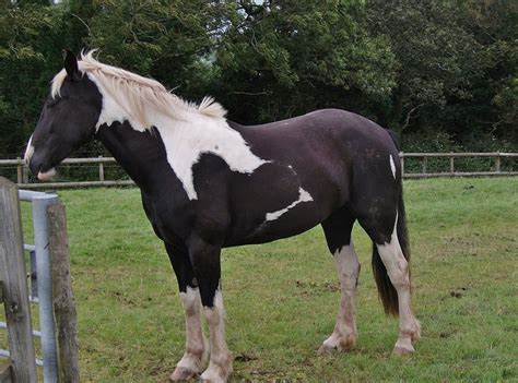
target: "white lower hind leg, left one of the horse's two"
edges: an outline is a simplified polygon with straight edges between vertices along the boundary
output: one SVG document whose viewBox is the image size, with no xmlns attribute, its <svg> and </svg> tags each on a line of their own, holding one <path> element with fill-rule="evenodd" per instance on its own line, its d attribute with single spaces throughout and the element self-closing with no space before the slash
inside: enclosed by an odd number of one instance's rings
<svg viewBox="0 0 518 383">
<path fill-rule="evenodd" d="M 360 263 L 354 251 L 353 242 L 337 250 L 333 255 L 340 278 L 342 296 L 333 333 L 323 342 L 319 349 L 320 354 L 332 349 L 350 349 L 356 345 L 354 297 L 356 294 Z"/>
</svg>

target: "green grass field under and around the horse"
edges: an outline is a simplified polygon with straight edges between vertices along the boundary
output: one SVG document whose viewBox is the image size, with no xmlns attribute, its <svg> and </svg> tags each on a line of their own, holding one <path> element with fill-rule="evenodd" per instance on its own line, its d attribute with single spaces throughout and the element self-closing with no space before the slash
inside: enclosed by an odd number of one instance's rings
<svg viewBox="0 0 518 383">
<path fill-rule="evenodd" d="M 355 227 L 363 265 L 358 344 L 349 354 L 316 356 L 332 332 L 340 297 L 317 227 L 224 251 L 233 380 L 518 380 L 518 178 L 404 185 L 414 309 L 423 327 L 417 352 L 391 356 L 398 321 L 382 313 L 370 243 Z M 184 314 L 139 191 L 59 194 L 68 213 L 83 382 L 166 381 L 183 355 Z"/>
</svg>

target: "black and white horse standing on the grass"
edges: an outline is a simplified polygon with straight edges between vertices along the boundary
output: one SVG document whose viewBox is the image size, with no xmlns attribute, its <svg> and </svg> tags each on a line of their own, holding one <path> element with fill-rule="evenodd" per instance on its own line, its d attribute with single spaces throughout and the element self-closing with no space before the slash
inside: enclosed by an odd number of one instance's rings
<svg viewBox="0 0 518 383">
<path fill-rule="evenodd" d="M 318 354 L 356 344 L 360 263 L 355 222 L 373 242 L 373 268 L 387 314 L 400 318 L 397 355 L 414 351 L 410 248 L 401 165 L 389 131 L 358 115 L 322 109 L 242 125 L 213 98 L 187 103 L 161 83 L 67 51 L 51 82 L 25 160 L 48 180 L 74 149 L 98 140 L 140 188 L 164 242 L 186 319 L 185 354 L 172 381 L 201 374 L 224 382 L 232 354 L 224 333 L 222 248 L 263 243 L 321 225 L 340 278 L 332 334 Z M 209 351 L 201 316 L 210 331 Z"/>
</svg>

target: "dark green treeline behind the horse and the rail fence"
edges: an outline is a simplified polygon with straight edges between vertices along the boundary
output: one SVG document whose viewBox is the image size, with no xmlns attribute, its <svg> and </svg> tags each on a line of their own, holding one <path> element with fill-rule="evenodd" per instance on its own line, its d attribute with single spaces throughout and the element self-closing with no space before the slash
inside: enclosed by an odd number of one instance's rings
<svg viewBox="0 0 518 383">
<path fill-rule="evenodd" d="M 63 48 L 243 123 L 337 107 L 405 151 L 516 151 L 517 41 L 517 1 L 3 0 L 0 154 L 23 151 Z"/>
</svg>

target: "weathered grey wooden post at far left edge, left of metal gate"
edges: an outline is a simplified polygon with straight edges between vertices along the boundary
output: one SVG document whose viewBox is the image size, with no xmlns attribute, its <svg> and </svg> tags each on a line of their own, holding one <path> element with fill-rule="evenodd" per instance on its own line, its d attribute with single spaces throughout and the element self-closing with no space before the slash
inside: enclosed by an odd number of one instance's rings
<svg viewBox="0 0 518 383">
<path fill-rule="evenodd" d="M 8 323 L 13 382 L 36 382 L 27 275 L 17 188 L 0 177 L 0 280 Z"/>
</svg>

